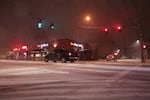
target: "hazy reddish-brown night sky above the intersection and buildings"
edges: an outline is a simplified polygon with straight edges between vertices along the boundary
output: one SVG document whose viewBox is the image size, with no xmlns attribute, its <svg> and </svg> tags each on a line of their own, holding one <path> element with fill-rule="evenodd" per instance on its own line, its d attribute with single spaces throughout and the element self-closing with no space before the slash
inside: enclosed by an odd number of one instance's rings
<svg viewBox="0 0 150 100">
<path fill-rule="evenodd" d="M 133 27 L 137 26 L 139 18 L 142 33 L 148 40 L 149 4 L 149 0 L 1 0 L 0 45 L 3 48 L 0 51 L 8 50 L 17 43 L 34 45 L 47 41 L 50 34 L 56 39 L 76 39 L 78 32 L 78 39 L 89 42 L 99 39 L 97 34 L 102 33 L 104 26 L 109 26 L 111 35 L 118 38 L 112 29 L 117 24 L 124 27 L 123 36 L 132 40 L 138 37 Z M 87 14 L 92 19 L 88 25 L 98 26 L 99 30 L 78 28 L 87 25 L 83 21 Z M 46 24 L 43 30 L 37 29 L 40 18 Z M 51 23 L 56 26 L 54 31 L 48 28 Z"/>
</svg>

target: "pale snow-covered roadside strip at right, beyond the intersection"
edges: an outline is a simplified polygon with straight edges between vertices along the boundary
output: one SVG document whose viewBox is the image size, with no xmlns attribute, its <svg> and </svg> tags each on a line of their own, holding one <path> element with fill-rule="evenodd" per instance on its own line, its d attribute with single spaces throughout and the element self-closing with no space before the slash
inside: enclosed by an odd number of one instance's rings
<svg viewBox="0 0 150 100">
<path fill-rule="evenodd" d="M 106 61 L 103 59 L 99 59 L 98 61 L 94 61 L 96 64 L 109 64 L 109 65 L 121 65 L 121 66 L 144 66 L 150 67 L 150 60 L 147 60 L 145 63 L 141 63 L 140 59 L 118 59 L 117 62 L 114 61 Z"/>
</svg>

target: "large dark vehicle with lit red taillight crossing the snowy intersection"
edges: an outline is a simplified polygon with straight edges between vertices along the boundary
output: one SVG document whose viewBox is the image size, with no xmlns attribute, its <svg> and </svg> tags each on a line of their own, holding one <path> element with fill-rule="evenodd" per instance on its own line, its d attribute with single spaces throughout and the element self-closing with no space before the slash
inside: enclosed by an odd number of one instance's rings
<svg viewBox="0 0 150 100">
<path fill-rule="evenodd" d="M 67 61 L 74 62 L 78 60 L 78 53 L 74 51 L 67 51 L 63 49 L 55 49 L 50 51 L 45 57 L 44 61 L 61 61 L 62 63 L 66 63 Z"/>
</svg>

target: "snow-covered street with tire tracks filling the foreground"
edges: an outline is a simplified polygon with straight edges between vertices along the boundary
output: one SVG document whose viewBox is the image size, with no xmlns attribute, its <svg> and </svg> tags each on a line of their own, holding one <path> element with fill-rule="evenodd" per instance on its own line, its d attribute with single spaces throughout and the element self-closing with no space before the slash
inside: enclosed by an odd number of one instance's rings
<svg viewBox="0 0 150 100">
<path fill-rule="evenodd" d="M 150 100 L 150 70 L 78 63 L 0 70 L 0 100 Z"/>
</svg>

